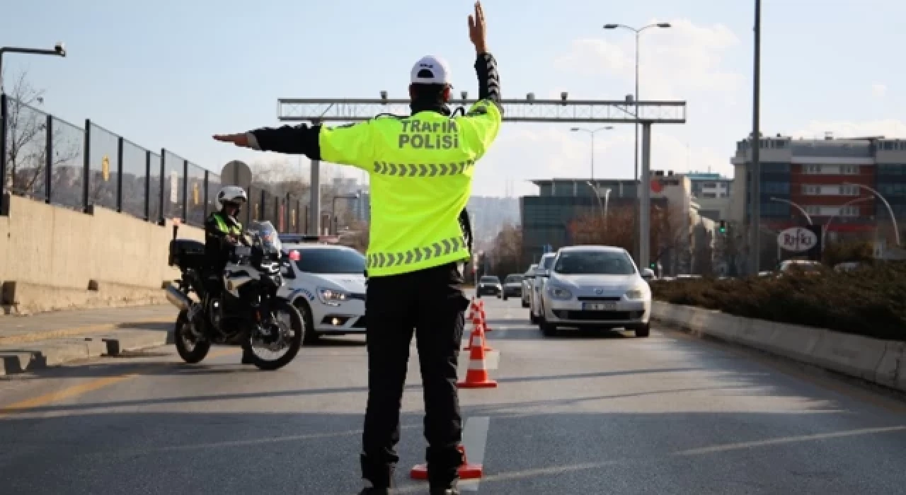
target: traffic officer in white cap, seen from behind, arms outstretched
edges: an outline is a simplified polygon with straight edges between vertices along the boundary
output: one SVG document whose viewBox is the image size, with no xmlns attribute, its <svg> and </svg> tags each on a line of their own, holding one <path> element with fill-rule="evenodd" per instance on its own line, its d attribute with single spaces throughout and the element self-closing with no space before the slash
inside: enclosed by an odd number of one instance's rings
<svg viewBox="0 0 906 495">
<path fill-rule="evenodd" d="M 459 216 L 471 193 L 476 162 L 494 142 L 503 111 L 480 3 L 468 24 L 477 52 L 478 100 L 465 115 L 453 117 L 448 108 L 447 64 L 427 56 L 411 71 L 409 117 L 214 137 L 236 146 L 352 165 L 370 175 L 368 406 L 361 471 L 371 486 L 362 494 L 390 493 L 400 460 L 400 401 L 413 329 L 424 386 L 430 492 L 458 493 L 462 418 L 456 381 L 468 307 L 460 263 L 469 260 Z"/>
</svg>

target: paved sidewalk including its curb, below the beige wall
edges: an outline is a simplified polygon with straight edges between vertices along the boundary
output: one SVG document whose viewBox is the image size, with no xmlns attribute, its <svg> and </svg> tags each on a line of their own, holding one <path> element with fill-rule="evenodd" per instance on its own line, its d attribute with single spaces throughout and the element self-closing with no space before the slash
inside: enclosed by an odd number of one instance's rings
<svg viewBox="0 0 906 495">
<path fill-rule="evenodd" d="M 86 309 L 0 318 L 0 376 L 169 343 L 171 306 Z"/>
</svg>

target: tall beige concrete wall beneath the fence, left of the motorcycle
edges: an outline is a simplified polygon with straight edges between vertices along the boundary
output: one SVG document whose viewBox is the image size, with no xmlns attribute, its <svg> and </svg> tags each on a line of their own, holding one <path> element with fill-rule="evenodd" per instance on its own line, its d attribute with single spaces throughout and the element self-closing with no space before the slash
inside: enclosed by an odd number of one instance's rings
<svg viewBox="0 0 906 495">
<path fill-rule="evenodd" d="M 0 281 L 7 312 L 162 302 L 172 226 L 96 207 L 93 214 L 11 196 L 0 217 Z M 179 237 L 204 240 L 196 227 Z"/>
</svg>

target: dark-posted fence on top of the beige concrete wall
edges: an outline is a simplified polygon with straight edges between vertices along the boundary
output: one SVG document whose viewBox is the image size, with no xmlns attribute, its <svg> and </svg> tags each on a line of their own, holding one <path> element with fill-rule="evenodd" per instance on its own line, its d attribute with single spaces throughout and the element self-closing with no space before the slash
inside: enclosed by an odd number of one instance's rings
<svg viewBox="0 0 906 495">
<path fill-rule="evenodd" d="M 163 224 L 203 226 L 217 210 L 221 178 L 161 149 L 142 148 L 86 119 L 82 127 L 0 95 L 0 193 L 86 213 L 101 206 Z M 304 233 L 303 198 L 249 187 L 240 218 L 269 220 L 281 233 Z"/>
</svg>

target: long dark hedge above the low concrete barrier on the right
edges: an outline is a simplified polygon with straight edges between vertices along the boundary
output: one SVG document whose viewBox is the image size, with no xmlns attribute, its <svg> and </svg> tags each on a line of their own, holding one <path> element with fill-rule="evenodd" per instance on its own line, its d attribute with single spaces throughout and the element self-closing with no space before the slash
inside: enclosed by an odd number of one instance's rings
<svg viewBox="0 0 906 495">
<path fill-rule="evenodd" d="M 653 281 L 656 300 L 747 318 L 906 340 L 906 264 L 780 277 Z"/>
</svg>

